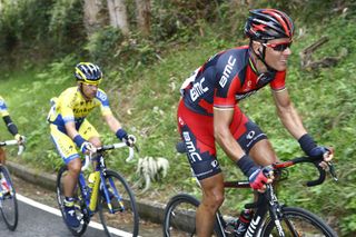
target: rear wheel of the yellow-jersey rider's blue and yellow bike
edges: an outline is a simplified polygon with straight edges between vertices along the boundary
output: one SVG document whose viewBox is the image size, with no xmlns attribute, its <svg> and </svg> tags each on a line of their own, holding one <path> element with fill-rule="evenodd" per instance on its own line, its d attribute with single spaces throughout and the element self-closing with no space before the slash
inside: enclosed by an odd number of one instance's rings
<svg viewBox="0 0 356 237">
<path fill-rule="evenodd" d="M 66 221 L 66 213 L 65 213 L 65 194 L 63 194 L 63 178 L 66 177 L 68 171 L 68 167 L 67 166 L 62 166 L 57 175 L 57 203 L 58 203 L 58 207 L 62 214 L 62 219 L 67 226 L 67 228 L 72 233 L 73 236 L 81 236 L 82 234 L 85 234 L 85 231 L 87 230 L 87 226 L 89 224 L 89 214 L 86 209 L 86 204 L 85 204 L 85 199 L 82 198 L 82 190 L 81 187 L 79 185 L 79 180 L 78 180 L 78 185 L 77 188 L 75 190 L 75 207 L 76 207 L 76 215 L 80 221 L 80 225 L 78 228 L 73 228 L 71 226 L 69 226 Z"/>
</svg>

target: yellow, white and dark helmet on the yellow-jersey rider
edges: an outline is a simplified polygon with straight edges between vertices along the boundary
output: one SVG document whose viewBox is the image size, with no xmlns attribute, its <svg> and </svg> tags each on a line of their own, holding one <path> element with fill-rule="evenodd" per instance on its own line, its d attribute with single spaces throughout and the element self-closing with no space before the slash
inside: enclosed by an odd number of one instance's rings
<svg viewBox="0 0 356 237">
<path fill-rule="evenodd" d="M 102 72 L 97 65 L 91 62 L 79 62 L 76 66 L 75 76 L 77 81 L 82 81 L 89 85 L 99 85 L 102 78 Z"/>
</svg>

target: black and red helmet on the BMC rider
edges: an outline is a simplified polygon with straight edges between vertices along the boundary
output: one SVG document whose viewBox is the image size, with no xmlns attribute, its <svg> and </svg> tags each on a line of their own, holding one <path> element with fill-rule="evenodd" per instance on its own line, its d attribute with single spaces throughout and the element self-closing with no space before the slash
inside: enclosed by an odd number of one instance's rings
<svg viewBox="0 0 356 237">
<path fill-rule="evenodd" d="M 251 40 L 273 40 L 293 38 L 294 23 L 291 19 L 275 9 L 255 9 L 249 11 L 245 24 L 245 34 Z"/>
</svg>

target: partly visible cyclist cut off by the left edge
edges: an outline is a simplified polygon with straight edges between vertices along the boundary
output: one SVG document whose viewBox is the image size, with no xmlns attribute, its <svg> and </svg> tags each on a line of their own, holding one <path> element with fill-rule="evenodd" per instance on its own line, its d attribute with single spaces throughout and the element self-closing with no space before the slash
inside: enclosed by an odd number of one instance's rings
<svg viewBox="0 0 356 237">
<path fill-rule="evenodd" d="M 24 141 L 24 137 L 21 136 L 18 131 L 18 127 L 13 124 L 12 119 L 10 118 L 10 113 L 8 111 L 8 107 L 6 105 L 4 99 L 0 96 L 0 115 L 8 127 L 8 130 L 10 134 L 14 137 L 14 139 L 19 142 L 22 144 Z M 6 152 L 4 150 L 0 147 L 0 164 L 6 162 Z"/>
</svg>

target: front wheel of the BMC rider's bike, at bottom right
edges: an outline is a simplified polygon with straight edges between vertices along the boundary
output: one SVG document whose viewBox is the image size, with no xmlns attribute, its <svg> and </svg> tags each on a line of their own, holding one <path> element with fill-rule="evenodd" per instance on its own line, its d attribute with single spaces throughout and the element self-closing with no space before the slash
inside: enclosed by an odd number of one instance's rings
<svg viewBox="0 0 356 237">
<path fill-rule="evenodd" d="M 336 233 L 315 214 L 298 207 L 281 208 L 281 226 L 286 236 L 336 237 Z M 260 236 L 279 236 L 275 223 L 267 217 Z"/>
</svg>

